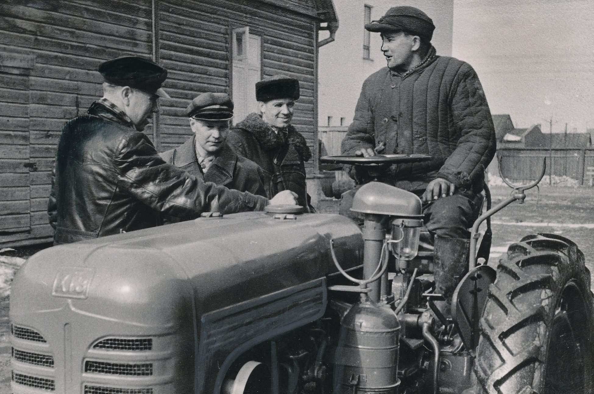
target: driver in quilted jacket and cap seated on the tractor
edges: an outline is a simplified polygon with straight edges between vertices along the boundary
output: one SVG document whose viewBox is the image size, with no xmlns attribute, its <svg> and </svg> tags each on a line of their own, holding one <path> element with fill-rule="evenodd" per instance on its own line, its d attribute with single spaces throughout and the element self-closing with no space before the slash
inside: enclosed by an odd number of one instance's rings
<svg viewBox="0 0 594 394">
<path fill-rule="evenodd" d="M 449 313 L 453 291 L 466 272 L 467 229 L 481 207 L 484 171 L 495 154 L 491 112 L 473 68 L 436 55 L 431 45 L 435 26 L 425 12 L 393 7 L 365 29 L 381 34 L 387 67 L 363 83 L 342 152 L 432 156 L 428 162 L 393 165 L 380 180 L 418 194 L 429 205 L 426 226 L 435 235 L 436 292 L 445 295 L 441 308 Z"/>
</svg>

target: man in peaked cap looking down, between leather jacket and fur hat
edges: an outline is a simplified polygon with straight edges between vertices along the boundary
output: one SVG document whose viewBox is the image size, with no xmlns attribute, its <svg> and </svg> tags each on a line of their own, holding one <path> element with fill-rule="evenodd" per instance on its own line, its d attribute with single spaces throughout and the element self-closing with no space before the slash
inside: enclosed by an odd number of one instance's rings
<svg viewBox="0 0 594 394">
<path fill-rule="evenodd" d="M 165 162 L 229 189 L 266 197 L 260 166 L 237 155 L 226 143 L 233 102 L 226 93 L 203 93 L 188 105 L 194 132 L 182 146 L 160 153 Z"/>
</svg>

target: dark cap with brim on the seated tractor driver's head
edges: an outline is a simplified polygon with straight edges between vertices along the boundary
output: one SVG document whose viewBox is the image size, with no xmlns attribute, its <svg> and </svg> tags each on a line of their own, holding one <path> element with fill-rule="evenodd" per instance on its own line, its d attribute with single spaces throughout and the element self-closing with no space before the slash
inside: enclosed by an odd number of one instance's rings
<svg viewBox="0 0 594 394">
<path fill-rule="evenodd" d="M 425 12 L 408 5 L 392 7 L 380 20 L 365 25 L 369 31 L 406 31 L 431 41 L 435 25 Z"/>
</svg>

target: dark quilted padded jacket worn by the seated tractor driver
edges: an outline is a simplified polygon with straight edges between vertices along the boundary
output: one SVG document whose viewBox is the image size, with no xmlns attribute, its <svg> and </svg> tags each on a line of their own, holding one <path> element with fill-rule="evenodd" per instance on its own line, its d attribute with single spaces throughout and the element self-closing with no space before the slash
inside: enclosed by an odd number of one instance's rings
<svg viewBox="0 0 594 394">
<path fill-rule="evenodd" d="M 424 190 L 435 178 L 462 191 L 481 190 L 495 155 L 495 130 L 475 70 L 458 59 L 432 55 L 405 74 L 388 67 L 371 74 L 342 152 L 353 155 L 362 147 L 431 155 L 428 162 L 393 165 L 381 175 L 381 181 L 405 190 Z"/>
</svg>

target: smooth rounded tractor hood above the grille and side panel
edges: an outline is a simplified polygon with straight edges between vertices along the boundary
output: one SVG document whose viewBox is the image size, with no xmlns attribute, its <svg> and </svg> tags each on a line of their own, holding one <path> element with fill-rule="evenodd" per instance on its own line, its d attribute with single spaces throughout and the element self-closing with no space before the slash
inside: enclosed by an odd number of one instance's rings
<svg viewBox="0 0 594 394">
<path fill-rule="evenodd" d="M 201 316 L 336 273 L 330 239 L 345 269 L 360 264 L 361 232 L 338 215 L 239 213 L 59 245 L 24 264 L 11 309 L 68 304 L 99 319 L 170 326 L 184 298 Z"/>
</svg>

